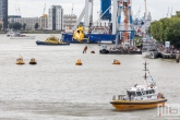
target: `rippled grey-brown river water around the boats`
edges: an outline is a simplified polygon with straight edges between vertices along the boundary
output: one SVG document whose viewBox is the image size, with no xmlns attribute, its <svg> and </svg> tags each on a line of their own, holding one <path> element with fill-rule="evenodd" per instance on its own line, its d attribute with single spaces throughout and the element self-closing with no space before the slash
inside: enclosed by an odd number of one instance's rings
<svg viewBox="0 0 180 120">
<path fill-rule="evenodd" d="M 170 59 L 145 59 L 141 55 L 99 55 L 101 46 L 37 46 L 36 39 L 9 39 L 0 35 L 0 119 L 3 120 L 165 120 L 157 108 L 117 111 L 109 101 L 136 83 L 143 83 L 143 62 L 167 104 L 180 104 L 180 64 Z M 58 36 L 58 35 L 57 35 Z M 112 45 L 109 45 L 112 46 Z M 94 50 L 96 53 L 91 53 Z M 17 65 L 19 56 L 25 64 Z M 29 65 L 29 59 L 37 60 Z M 75 65 L 81 59 L 82 67 Z M 112 65 L 118 59 L 120 65 Z"/>
</svg>

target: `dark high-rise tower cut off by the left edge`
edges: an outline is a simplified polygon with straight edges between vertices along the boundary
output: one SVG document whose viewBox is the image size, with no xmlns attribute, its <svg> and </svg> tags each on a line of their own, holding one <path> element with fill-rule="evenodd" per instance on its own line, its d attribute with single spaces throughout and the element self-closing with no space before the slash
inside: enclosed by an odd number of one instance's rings
<svg viewBox="0 0 180 120">
<path fill-rule="evenodd" d="M 3 28 L 8 28 L 8 0 L 0 0 L 0 21 L 3 22 Z"/>
</svg>

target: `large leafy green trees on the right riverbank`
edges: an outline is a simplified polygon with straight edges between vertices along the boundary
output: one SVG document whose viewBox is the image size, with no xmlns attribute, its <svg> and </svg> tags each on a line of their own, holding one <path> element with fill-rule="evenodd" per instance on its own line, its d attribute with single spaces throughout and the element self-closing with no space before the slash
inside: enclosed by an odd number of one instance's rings
<svg viewBox="0 0 180 120">
<path fill-rule="evenodd" d="M 180 48 L 180 11 L 171 17 L 152 22 L 147 33 L 161 44 L 170 41 L 176 48 Z"/>
</svg>

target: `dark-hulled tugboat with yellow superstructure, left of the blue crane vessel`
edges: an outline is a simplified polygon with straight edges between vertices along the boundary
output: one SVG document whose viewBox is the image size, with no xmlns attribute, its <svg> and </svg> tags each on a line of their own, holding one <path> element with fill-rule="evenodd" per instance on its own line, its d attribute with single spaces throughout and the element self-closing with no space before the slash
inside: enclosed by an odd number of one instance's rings
<svg viewBox="0 0 180 120">
<path fill-rule="evenodd" d="M 47 46 L 67 46 L 67 45 L 70 45 L 70 43 L 64 43 L 53 35 L 48 37 L 45 41 L 37 40 L 36 44 L 37 45 L 47 45 Z"/>
</svg>

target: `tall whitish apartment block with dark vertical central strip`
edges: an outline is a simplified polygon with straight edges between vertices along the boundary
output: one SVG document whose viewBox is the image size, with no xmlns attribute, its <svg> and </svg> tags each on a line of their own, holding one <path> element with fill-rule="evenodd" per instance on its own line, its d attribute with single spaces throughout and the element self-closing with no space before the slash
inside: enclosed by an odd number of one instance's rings
<svg viewBox="0 0 180 120">
<path fill-rule="evenodd" d="M 63 27 L 63 9 L 61 5 L 51 5 L 48 11 L 48 28 L 52 31 L 62 31 Z"/>
</svg>

